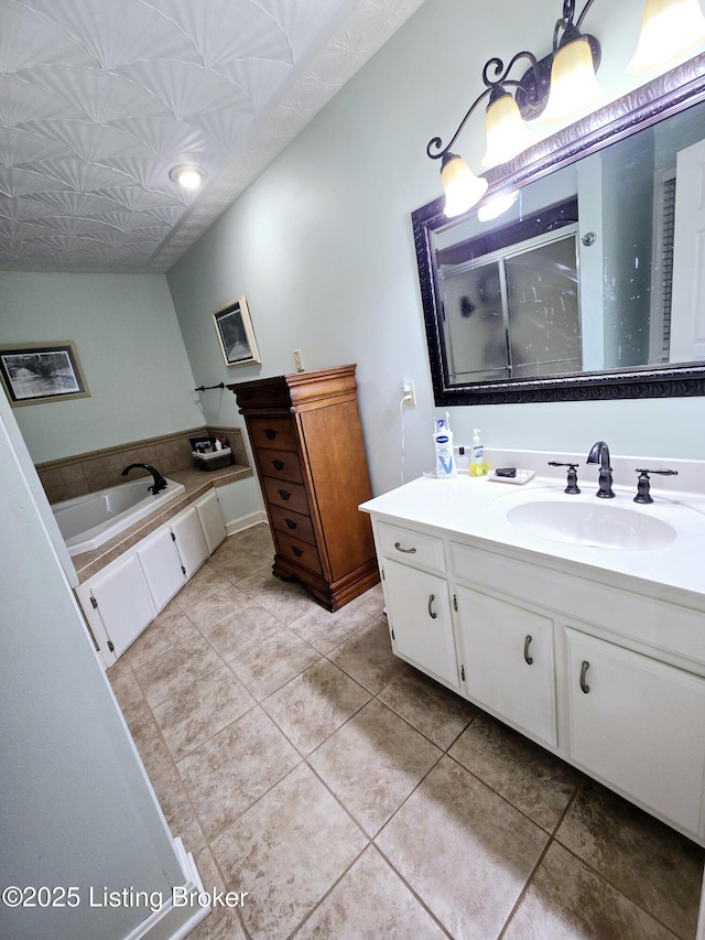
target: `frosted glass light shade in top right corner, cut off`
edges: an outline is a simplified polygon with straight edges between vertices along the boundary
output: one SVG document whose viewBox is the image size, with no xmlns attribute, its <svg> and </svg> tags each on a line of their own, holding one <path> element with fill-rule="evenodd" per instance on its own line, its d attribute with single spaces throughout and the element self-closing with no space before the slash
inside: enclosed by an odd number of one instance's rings
<svg viewBox="0 0 705 940">
<path fill-rule="evenodd" d="M 627 72 L 675 65 L 704 40 L 705 17 L 698 0 L 647 0 L 639 45 Z"/>
</svg>

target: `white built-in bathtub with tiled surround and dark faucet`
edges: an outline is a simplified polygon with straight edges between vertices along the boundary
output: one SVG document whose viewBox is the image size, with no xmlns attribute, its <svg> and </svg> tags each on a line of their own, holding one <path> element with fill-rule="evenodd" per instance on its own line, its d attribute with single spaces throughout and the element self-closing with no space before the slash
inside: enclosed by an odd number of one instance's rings
<svg viewBox="0 0 705 940">
<path fill-rule="evenodd" d="M 52 510 L 69 555 L 99 548 L 124 529 L 149 516 L 184 491 L 184 485 L 166 480 L 166 489 L 150 493 L 151 476 L 111 486 L 86 496 L 54 503 Z"/>
</svg>

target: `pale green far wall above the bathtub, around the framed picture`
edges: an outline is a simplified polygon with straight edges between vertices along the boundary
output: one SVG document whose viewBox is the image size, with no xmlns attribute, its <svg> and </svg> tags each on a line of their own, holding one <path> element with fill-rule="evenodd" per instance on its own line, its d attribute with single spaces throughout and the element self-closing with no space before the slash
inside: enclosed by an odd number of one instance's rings
<svg viewBox="0 0 705 940">
<path fill-rule="evenodd" d="M 163 274 L 0 272 L 0 345 L 67 339 L 90 397 L 14 409 L 35 463 L 204 423 Z"/>
</svg>

